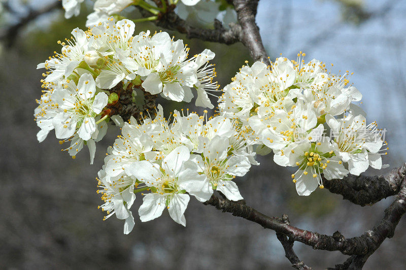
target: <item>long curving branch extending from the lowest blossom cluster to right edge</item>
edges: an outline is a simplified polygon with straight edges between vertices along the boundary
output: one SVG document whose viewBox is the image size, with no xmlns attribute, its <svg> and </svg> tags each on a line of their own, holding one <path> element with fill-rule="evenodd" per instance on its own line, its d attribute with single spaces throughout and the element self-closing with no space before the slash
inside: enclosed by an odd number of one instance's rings
<svg viewBox="0 0 406 270">
<path fill-rule="evenodd" d="M 397 223 L 406 211 L 406 181 L 402 181 L 396 200 L 385 210 L 385 217 L 381 222 L 373 229 L 366 231 L 361 237 L 350 239 L 346 239 L 339 231 L 329 236 L 294 227 L 281 218 L 265 216 L 241 201 L 235 202 L 213 195 L 205 204 L 258 223 L 264 228 L 273 229 L 277 233 L 288 235 L 292 240 L 309 245 L 314 249 L 337 250 L 347 255 L 369 256 L 368 254 L 373 253 L 386 238 L 393 236 Z"/>
</svg>

